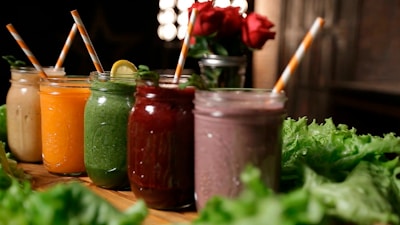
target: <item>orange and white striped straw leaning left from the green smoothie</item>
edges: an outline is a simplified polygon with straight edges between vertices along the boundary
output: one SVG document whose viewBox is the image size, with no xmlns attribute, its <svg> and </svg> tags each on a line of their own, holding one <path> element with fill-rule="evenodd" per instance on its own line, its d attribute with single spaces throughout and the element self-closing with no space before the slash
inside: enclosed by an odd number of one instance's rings
<svg viewBox="0 0 400 225">
<path fill-rule="evenodd" d="M 72 10 L 71 11 L 72 17 L 75 20 L 75 23 L 78 26 L 79 33 L 81 34 L 81 37 L 83 39 L 83 42 L 85 42 L 86 48 L 89 52 L 90 58 L 93 61 L 94 67 L 96 67 L 97 72 L 104 73 L 103 66 L 100 63 L 99 57 L 97 56 L 96 51 L 94 50 L 92 41 L 89 38 L 89 35 L 86 31 L 85 25 L 83 24 L 81 17 L 79 16 L 78 10 Z"/>
</svg>

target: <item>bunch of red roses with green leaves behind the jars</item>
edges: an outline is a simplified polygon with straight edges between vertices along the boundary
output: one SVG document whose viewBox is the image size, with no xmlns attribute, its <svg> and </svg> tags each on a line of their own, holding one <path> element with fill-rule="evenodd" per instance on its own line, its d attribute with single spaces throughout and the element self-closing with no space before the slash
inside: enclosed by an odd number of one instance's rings
<svg viewBox="0 0 400 225">
<path fill-rule="evenodd" d="M 267 17 L 256 13 L 243 17 L 240 7 L 222 8 L 214 6 L 213 2 L 194 2 L 188 8 L 189 15 L 193 9 L 198 10 L 190 38 L 189 57 L 244 55 L 261 49 L 268 39 L 275 38 L 275 32 L 270 30 L 274 24 Z"/>
</svg>

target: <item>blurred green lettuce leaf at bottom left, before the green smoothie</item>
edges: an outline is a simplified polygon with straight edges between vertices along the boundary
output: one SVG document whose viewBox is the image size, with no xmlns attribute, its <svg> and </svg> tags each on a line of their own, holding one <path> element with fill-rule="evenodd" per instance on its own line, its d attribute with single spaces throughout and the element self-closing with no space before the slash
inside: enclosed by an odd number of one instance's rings
<svg viewBox="0 0 400 225">
<path fill-rule="evenodd" d="M 134 210 L 120 212 L 77 182 L 58 184 L 30 195 L 25 204 L 28 218 L 34 218 L 33 224 L 124 224 L 128 221 L 141 224 L 147 215 L 147 208 L 141 201 L 132 206 Z"/>
</svg>

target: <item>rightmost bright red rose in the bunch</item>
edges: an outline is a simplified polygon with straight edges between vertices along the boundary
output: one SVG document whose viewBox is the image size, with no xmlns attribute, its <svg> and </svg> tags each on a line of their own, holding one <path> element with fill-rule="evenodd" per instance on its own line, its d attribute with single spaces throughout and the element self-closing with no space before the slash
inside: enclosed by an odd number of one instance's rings
<svg viewBox="0 0 400 225">
<path fill-rule="evenodd" d="M 273 26 L 267 17 L 250 13 L 242 26 L 243 43 L 249 48 L 261 49 L 268 39 L 275 38 L 275 32 L 269 30 Z"/>
</svg>

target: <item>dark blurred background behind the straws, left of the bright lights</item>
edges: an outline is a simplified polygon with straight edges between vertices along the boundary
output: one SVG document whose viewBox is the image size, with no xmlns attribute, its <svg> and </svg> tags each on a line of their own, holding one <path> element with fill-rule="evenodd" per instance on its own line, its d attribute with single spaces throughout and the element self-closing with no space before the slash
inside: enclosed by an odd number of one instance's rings
<svg viewBox="0 0 400 225">
<path fill-rule="evenodd" d="M 31 63 L 6 28 L 12 23 L 42 66 L 54 66 L 78 10 L 105 70 L 119 59 L 152 69 L 175 69 L 181 43 L 157 37 L 158 1 L 9 1 L 0 8 L 0 55 L 13 55 Z M 95 70 L 77 32 L 64 62 L 67 74 Z M 185 68 L 196 67 L 190 59 Z M 0 104 L 9 88 L 8 63 L 0 60 Z"/>
</svg>

